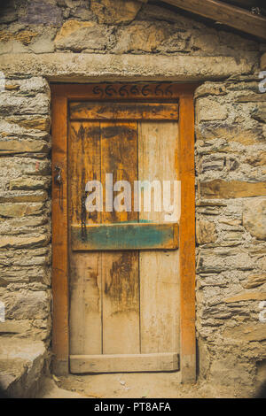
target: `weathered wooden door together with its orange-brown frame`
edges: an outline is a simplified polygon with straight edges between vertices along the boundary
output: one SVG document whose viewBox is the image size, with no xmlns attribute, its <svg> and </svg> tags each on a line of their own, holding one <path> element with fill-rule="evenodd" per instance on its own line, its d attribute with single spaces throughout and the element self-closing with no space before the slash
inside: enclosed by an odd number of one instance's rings
<svg viewBox="0 0 266 416">
<path fill-rule="evenodd" d="M 56 374 L 180 369 L 183 381 L 195 378 L 194 88 L 52 86 Z M 131 210 L 110 209 L 110 173 L 129 183 Z M 135 181 L 176 179 L 175 220 L 154 203 L 133 207 Z M 90 181 L 102 184 L 103 210 L 86 211 Z"/>
</svg>

